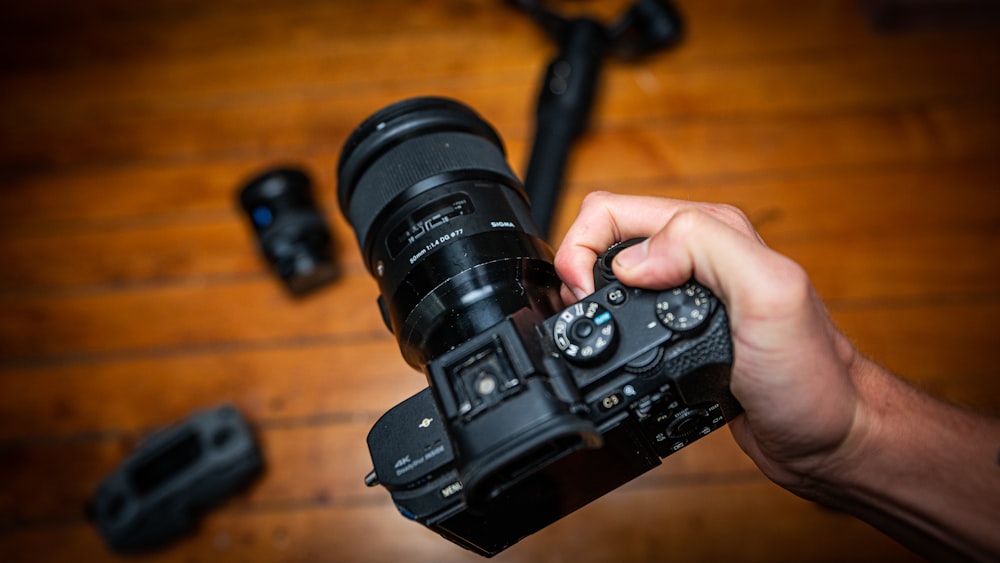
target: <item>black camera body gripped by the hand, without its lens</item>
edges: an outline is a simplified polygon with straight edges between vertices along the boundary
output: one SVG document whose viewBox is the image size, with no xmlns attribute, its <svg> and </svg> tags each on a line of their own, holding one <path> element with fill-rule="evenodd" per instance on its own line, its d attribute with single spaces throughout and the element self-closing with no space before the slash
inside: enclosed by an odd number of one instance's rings
<svg viewBox="0 0 1000 563">
<path fill-rule="evenodd" d="M 429 361 L 436 397 L 379 419 L 368 447 L 404 516 L 492 556 L 740 412 L 725 308 L 693 281 L 622 285 L 610 264 L 627 244 L 598 258 L 592 295 Z"/>
</svg>

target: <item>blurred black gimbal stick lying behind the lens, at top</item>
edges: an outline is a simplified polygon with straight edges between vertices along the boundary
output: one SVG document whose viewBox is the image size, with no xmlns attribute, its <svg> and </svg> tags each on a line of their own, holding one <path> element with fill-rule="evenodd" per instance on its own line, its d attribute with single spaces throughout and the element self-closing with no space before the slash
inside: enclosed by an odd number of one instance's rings
<svg viewBox="0 0 1000 563">
<path fill-rule="evenodd" d="M 559 45 L 538 96 L 535 142 L 525 189 L 536 222 L 549 233 L 569 149 L 586 127 L 606 56 L 635 60 L 680 41 L 682 20 L 665 0 L 639 0 L 605 26 L 590 17 L 569 18 L 538 0 L 513 0 Z"/>
</svg>

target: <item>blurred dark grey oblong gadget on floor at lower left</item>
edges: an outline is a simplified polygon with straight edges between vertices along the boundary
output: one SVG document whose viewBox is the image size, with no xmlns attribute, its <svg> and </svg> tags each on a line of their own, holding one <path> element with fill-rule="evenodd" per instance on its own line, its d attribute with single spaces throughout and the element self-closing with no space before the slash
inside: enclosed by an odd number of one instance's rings
<svg viewBox="0 0 1000 563">
<path fill-rule="evenodd" d="M 97 488 L 87 515 L 115 551 L 161 547 L 246 488 L 262 467 L 246 420 L 219 406 L 144 439 Z"/>
</svg>

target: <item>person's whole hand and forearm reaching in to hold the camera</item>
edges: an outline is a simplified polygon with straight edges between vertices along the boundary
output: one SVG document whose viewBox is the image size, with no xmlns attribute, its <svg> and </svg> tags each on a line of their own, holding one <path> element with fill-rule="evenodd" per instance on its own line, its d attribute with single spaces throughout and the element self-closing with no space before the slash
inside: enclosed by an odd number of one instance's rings
<svg viewBox="0 0 1000 563">
<path fill-rule="evenodd" d="M 806 273 L 767 248 L 732 206 L 595 192 L 556 253 L 563 299 L 594 289 L 613 243 L 622 283 L 667 289 L 694 277 L 725 303 L 730 429 L 773 481 L 846 510 L 930 559 L 1000 557 L 1000 419 L 933 399 L 859 354 Z"/>
</svg>

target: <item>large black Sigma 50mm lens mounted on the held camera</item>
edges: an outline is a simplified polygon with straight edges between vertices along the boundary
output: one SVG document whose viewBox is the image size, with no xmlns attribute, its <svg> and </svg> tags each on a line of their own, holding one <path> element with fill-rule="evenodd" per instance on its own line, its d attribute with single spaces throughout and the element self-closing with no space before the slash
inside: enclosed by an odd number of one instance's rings
<svg viewBox="0 0 1000 563">
<path fill-rule="evenodd" d="M 384 108 L 347 140 L 338 200 L 403 357 L 430 359 L 528 307 L 557 311 L 552 250 L 493 127 L 446 98 Z"/>
</svg>

